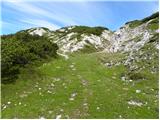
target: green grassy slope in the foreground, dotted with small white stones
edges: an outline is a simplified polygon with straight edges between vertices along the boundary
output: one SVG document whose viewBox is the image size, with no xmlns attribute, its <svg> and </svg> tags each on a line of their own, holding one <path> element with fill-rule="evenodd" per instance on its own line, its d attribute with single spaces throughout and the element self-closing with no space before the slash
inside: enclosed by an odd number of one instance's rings
<svg viewBox="0 0 160 120">
<path fill-rule="evenodd" d="M 102 56 L 78 54 L 24 69 L 15 84 L 2 85 L 2 118 L 158 118 L 158 75 L 124 82 L 126 68 L 107 68 Z M 112 56 L 108 59 L 116 59 Z M 143 106 L 128 105 L 129 100 Z"/>
</svg>

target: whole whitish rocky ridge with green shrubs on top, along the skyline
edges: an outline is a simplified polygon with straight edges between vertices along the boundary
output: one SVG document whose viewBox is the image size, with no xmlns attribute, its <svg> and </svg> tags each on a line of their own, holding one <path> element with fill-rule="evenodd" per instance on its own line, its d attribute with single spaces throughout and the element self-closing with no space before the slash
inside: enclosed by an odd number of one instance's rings
<svg viewBox="0 0 160 120">
<path fill-rule="evenodd" d="M 45 28 L 32 28 L 30 34 L 47 35 L 57 43 L 59 53 L 68 54 L 86 46 L 96 51 L 132 52 L 141 49 L 158 32 L 159 13 L 126 23 L 115 32 L 103 27 L 69 26 L 49 31 Z M 155 45 L 159 48 L 158 44 Z M 95 52 L 95 51 L 93 51 Z"/>
</svg>

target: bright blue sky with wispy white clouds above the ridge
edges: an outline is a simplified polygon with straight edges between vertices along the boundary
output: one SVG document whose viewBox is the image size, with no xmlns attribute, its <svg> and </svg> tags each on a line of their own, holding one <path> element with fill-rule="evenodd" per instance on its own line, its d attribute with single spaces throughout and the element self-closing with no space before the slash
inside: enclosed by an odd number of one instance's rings
<svg viewBox="0 0 160 120">
<path fill-rule="evenodd" d="M 1 34 L 31 27 L 54 30 L 70 25 L 104 26 L 116 30 L 127 21 L 142 19 L 158 11 L 158 0 L 75 1 L 3 0 Z"/>
</svg>

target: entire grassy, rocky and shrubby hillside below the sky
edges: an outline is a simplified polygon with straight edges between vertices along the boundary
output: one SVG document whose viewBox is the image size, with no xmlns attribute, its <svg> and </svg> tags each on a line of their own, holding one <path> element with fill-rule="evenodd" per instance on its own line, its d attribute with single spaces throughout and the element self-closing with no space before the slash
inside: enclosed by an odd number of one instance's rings
<svg viewBox="0 0 160 120">
<path fill-rule="evenodd" d="M 2 36 L 2 118 L 158 119 L 158 23 Z"/>
</svg>

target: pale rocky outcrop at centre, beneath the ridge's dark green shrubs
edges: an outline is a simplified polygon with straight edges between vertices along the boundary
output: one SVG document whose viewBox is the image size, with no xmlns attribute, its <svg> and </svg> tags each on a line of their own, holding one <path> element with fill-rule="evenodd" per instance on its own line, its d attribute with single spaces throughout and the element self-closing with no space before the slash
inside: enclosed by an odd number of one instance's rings
<svg viewBox="0 0 160 120">
<path fill-rule="evenodd" d="M 69 30 L 75 27 L 69 27 Z M 66 30 L 65 30 L 66 29 Z M 59 45 L 59 52 L 67 54 L 83 49 L 86 45 L 94 47 L 97 51 L 109 46 L 112 32 L 104 30 L 101 35 L 88 33 L 69 32 L 68 28 L 62 28 L 53 32 L 49 37 L 52 42 Z"/>
</svg>

